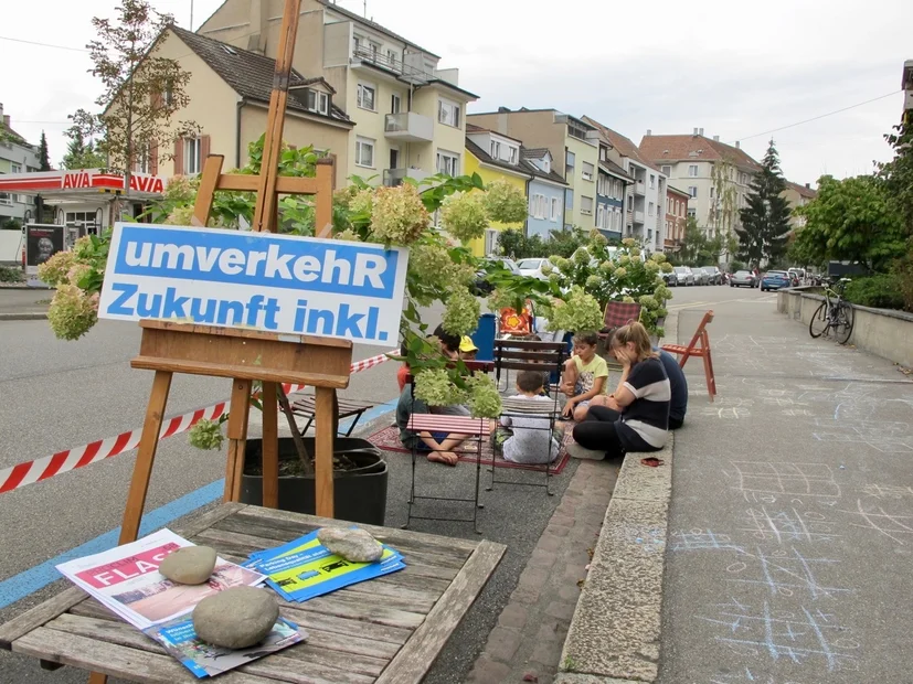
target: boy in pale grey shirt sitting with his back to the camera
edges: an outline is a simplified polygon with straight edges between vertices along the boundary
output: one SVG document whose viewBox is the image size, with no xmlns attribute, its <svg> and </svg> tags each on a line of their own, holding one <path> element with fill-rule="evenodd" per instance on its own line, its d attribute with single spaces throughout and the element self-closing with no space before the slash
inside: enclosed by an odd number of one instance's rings
<svg viewBox="0 0 913 684">
<path fill-rule="evenodd" d="M 541 405 L 542 415 L 501 417 L 501 426 L 511 428 L 512 431 L 512 435 L 501 445 L 505 460 L 514 463 L 551 463 L 558 458 L 559 443 L 552 430 L 549 429 L 551 421 L 545 417 L 554 403 L 553 399 L 541 394 L 542 373 L 520 371 L 517 374 L 517 392 L 518 394 L 510 397 L 509 402 L 529 403 L 530 407 Z M 505 410 L 511 413 L 510 407 Z"/>
</svg>

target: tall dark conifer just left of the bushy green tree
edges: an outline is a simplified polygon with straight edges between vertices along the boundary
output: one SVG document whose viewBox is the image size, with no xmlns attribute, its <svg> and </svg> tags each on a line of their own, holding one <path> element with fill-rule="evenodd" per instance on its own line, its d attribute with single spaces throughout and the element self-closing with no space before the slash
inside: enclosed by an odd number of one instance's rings
<svg viewBox="0 0 913 684">
<path fill-rule="evenodd" d="M 737 231 L 739 256 L 754 266 L 762 261 L 779 263 L 786 254 L 789 235 L 789 203 L 781 196 L 786 181 L 773 139 L 761 167 L 752 180 L 747 206 L 739 212 L 742 218 L 742 227 Z"/>
</svg>

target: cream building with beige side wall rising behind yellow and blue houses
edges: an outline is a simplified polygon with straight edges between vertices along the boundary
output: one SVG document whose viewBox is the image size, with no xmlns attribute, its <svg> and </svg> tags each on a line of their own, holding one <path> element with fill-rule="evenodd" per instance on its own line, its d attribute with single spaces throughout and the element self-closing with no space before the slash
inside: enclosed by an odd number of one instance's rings
<svg viewBox="0 0 913 684">
<path fill-rule="evenodd" d="M 545 148 L 567 188 L 564 193 L 564 227 L 590 229 L 596 225 L 596 168 L 599 163 L 595 128 L 556 109 L 510 110 L 471 114 L 471 124 L 522 140 L 530 148 Z M 563 173 L 562 173 L 563 172 Z"/>
</svg>

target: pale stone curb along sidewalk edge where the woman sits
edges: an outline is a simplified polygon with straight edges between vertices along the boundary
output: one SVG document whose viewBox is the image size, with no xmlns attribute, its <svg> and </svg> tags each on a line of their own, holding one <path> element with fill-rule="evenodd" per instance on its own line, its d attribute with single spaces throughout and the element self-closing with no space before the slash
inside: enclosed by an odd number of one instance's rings
<svg viewBox="0 0 913 684">
<path fill-rule="evenodd" d="M 678 316 L 667 319 L 676 340 Z M 606 510 L 555 684 L 654 682 L 659 674 L 662 578 L 675 435 L 657 453 L 629 453 Z M 662 466 L 640 463 L 645 456 Z"/>
</svg>

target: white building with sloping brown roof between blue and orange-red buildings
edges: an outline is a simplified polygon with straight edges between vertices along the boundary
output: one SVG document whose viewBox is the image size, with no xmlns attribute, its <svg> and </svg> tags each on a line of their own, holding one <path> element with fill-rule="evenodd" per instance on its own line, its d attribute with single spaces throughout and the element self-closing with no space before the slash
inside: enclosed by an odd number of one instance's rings
<svg viewBox="0 0 913 684">
<path fill-rule="evenodd" d="M 606 146 L 607 159 L 634 179 L 625 190 L 624 237 L 634 237 L 641 247 L 651 252 L 662 252 L 666 232 L 666 177 L 641 154 L 629 138 L 590 117 L 585 116 L 583 120 L 598 131 L 599 139 Z"/>
</svg>

